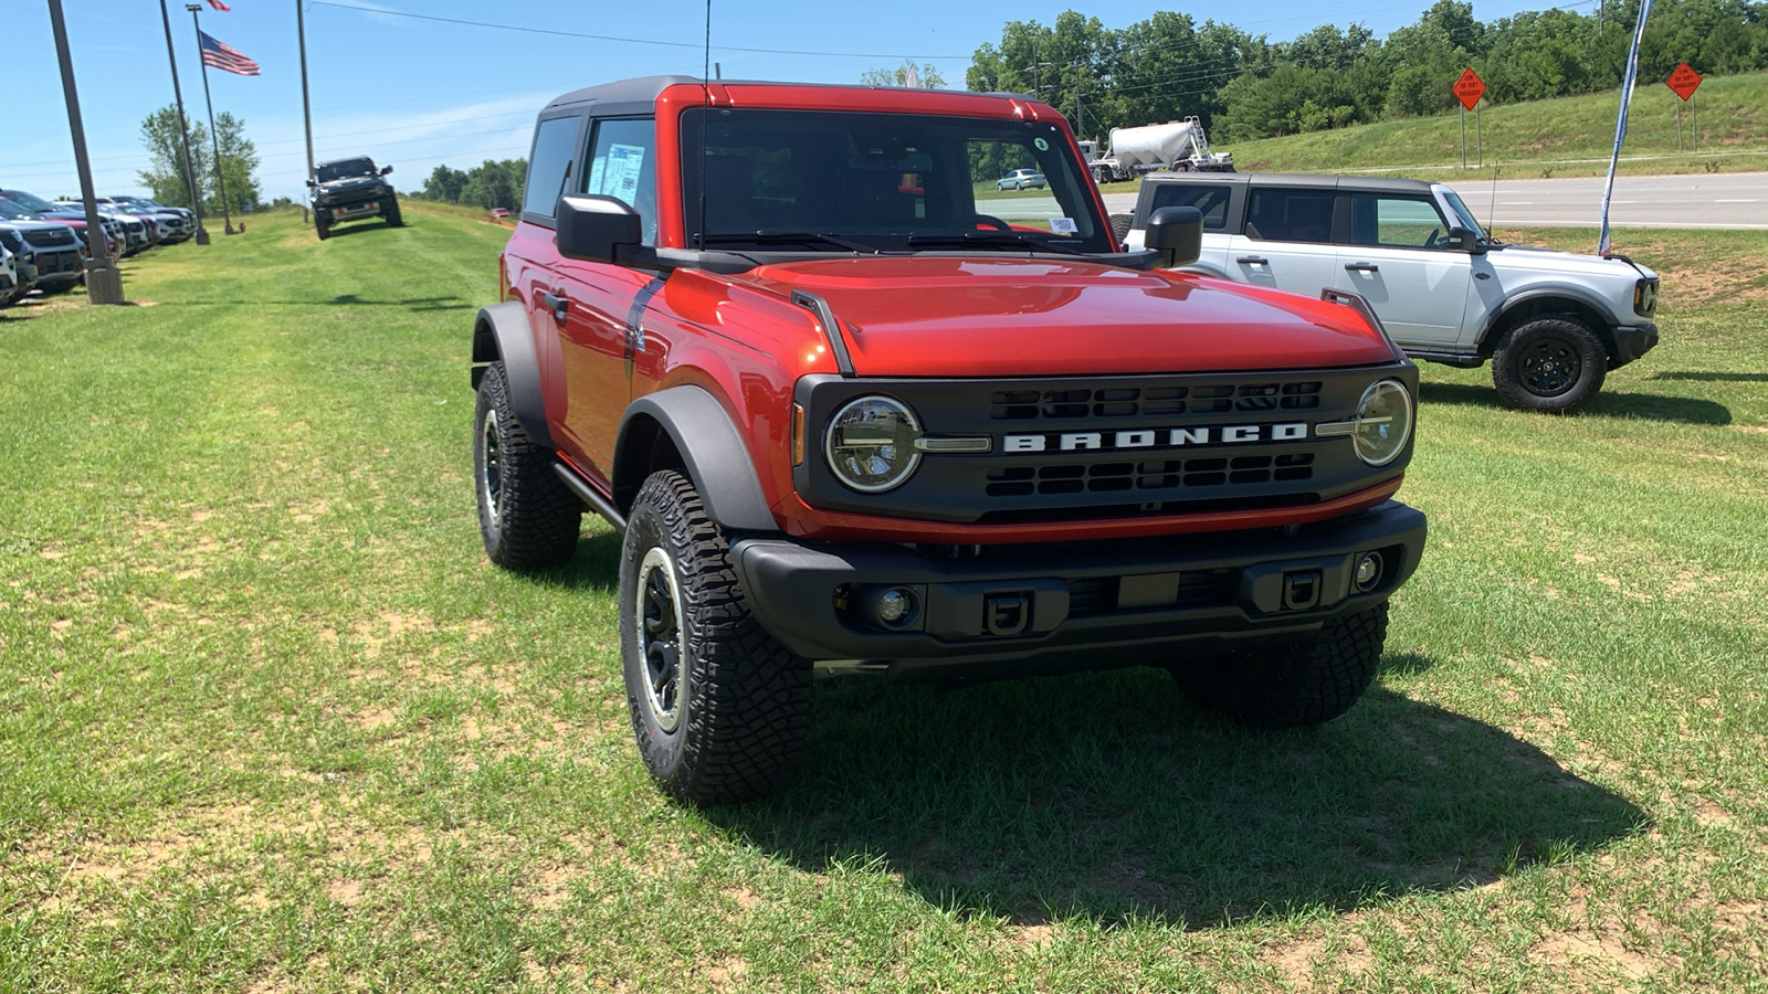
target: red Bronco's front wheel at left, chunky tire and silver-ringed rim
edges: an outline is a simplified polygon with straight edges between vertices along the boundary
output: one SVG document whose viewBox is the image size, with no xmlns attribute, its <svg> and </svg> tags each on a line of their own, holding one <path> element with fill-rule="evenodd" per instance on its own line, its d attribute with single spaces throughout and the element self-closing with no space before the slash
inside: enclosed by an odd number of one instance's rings
<svg viewBox="0 0 1768 994">
<path fill-rule="evenodd" d="M 640 605 L 651 582 L 674 587 L 665 593 L 679 605 L 679 624 L 658 600 Z M 670 624 L 677 624 L 681 677 L 647 684 L 647 656 L 668 658 Z M 638 753 L 670 798 L 748 801 L 780 791 L 797 771 L 810 723 L 810 661 L 755 621 L 723 531 L 705 516 L 693 483 L 674 470 L 645 479 L 626 522 L 621 661 Z M 674 686 L 674 693 L 658 695 L 652 686 Z"/>
</svg>

